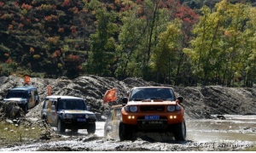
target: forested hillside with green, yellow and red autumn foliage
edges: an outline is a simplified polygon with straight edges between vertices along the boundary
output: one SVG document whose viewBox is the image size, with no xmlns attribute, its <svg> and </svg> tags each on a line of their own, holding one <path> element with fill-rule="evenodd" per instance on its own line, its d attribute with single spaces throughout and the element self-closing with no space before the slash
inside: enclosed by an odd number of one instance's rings
<svg viewBox="0 0 256 153">
<path fill-rule="evenodd" d="M 0 0 L 0 77 L 253 87 L 255 0 Z"/>
</svg>

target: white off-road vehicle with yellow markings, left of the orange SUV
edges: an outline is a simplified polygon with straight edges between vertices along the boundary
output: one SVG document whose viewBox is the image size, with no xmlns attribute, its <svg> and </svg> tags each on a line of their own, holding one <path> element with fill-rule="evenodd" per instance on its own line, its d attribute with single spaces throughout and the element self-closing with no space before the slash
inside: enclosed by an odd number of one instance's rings
<svg viewBox="0 0 256 153">
<path fill-rule="evenodd" d="M 51 95 L 44 99 L 41 118 L 52 127 L 57 127 L 58 133 L 65 133 L 66 129 L 78 132 L 87 129 L 95 133 L 96 115 L 90 111 L 84 99 L 73 96 Z"/>
</svg>

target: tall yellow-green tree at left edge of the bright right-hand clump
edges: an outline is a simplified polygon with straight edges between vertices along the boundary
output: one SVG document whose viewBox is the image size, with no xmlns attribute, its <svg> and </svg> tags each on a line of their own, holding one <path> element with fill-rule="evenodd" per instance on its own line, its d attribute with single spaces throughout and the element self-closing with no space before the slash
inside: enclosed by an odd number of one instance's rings
<svg viewBox="0 0 256 153">
<path fill-rule="evenodd" d="M 211 73 L 209 67 L 209 55 L 211 43 L 214 36 L 214 27 L 218 24 L 213 22 L 210 9 L 206 6 L 201 8 L 202 16 L 200 22 L 195 26 L 193 32 L 195 39 L 191 41 L 191 48 L 185 48 L 184 53 L 188 54 L 194 62 L 194 73 L 197 79 L 204 78 L 204 84 L 207 83 L 208 72 Z"/>
</svg>

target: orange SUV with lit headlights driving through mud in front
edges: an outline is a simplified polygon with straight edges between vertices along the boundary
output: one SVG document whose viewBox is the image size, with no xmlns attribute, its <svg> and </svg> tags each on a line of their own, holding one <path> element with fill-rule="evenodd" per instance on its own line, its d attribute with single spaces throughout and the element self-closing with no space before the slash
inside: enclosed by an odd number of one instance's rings
<svg viewBox="0 0 256 153">
<path fill-rule="evenodd" d="M 107 118 L 105 133 L 119 129 L 119 139 L 131 139 L 136 132 L 170 132 L 176 140 L 186 139 L 183 97 L 177 96 L 169 87 L 132 88 L 123 105 Z M 117 112 L 119 111 L 119 112 Z M 119 114 L 117 117 L 115 114 Z M 105 134 L 106 135 L 106 134 Z"/>
</svg>

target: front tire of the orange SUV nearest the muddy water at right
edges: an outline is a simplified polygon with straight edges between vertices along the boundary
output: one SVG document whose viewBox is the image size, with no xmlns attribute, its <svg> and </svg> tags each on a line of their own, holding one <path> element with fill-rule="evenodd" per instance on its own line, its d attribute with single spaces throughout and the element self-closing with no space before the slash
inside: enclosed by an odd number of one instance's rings
<svg viewBox="0 0 256 153">
<path fill-rule="evenodd" d="M 186 130 L 186 123 L 183 120 L 183 122 L 177 123 L 175 125 L 174 129 L 174 138 L 177 141 L 184 141 L 187 136 L 187 130 Z"/>
</svg>

